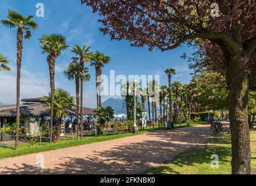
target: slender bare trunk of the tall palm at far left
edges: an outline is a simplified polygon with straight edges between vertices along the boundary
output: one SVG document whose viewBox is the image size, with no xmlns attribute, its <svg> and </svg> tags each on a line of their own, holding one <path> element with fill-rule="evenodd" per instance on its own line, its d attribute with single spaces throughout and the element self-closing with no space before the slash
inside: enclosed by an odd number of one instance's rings
<svg viewBox="0 0 256 186">
<path fill-rule="evenodd" d="M 15 150 L 19 149 L 19 127 L 20 127 L 20 69 L 22 67 L 23 30 L 17 30 L 17 82 L 16 82 L 16 138 Z"/>
</svg>

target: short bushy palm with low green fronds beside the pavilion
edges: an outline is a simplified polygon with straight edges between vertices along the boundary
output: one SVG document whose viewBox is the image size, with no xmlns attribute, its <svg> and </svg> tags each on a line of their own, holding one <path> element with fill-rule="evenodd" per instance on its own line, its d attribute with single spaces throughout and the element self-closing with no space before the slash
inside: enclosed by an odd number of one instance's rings
<svg viewBox="0 0 256 186">
<path fill-rule="evenodd" d="M 47 101 L 45 104 L 51 109 L 51 95 L 45 96 Z M 54 142 L 59 141 L 59 134 L 61 132 L 61 122 L 62 118 L 69 115 L 69 109 L 74 109 L 74 98 L 69 94 L 69 92 L 63 89 L 56 89 L 54 92 L 54 129 L 52 140 Z"/>
</svg>

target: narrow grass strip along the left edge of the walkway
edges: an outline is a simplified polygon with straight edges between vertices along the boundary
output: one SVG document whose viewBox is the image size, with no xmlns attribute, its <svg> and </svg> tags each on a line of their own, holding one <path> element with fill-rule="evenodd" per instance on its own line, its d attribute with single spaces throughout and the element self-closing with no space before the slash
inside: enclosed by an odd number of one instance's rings
<svg viewBox="0 0 256 186">
<path fill-rule="evenodd" d="M 140 135 L 148 133 L 147 131 L 138 131 L 137 134 L 131 134 L 131 133 L 123 133 L 123 134 L 109 134 L 106 136 L 101 137 L 95 137 L 94 135 L 85 135 L 83 137 L 83 140 L 77 140 L 77 138 L 74 137 L 74 140 L 72 138 L 62 138 L 58 143 L 49 145 L 49 142 L 42 142 L 41 146 L 39 143 L 34 144 L 29 148 L 28 144 L 19 144 L 19 150 L 15 151 L 15 145 L 0 145 L 0 159 L 5 158 L 11 158 L 15 156 L 22 156 L 27 155 L 30 153 L 37 153 L 37 152 L 45 152 L 45 151 L 51 151 L 55 149 L 62 149 L 62 148 L 68 148 L 71 146 L 79 146 L 79 145 L 85 145 L 85 144 L 91 144 L 93 142 L 100 142 L 100 141 L 107 141 L 107 140 L 114 140 L 118 138 L 124 138 L 129 137 L 133 135 Z"/>
</svg>

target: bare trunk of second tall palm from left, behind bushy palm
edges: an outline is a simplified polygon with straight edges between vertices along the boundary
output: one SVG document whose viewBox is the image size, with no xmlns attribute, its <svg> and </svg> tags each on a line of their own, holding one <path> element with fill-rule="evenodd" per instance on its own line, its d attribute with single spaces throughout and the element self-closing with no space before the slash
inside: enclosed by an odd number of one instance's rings
<svg viewBox="0 0 256 186">
<path fill-rule="evenodd" d="M 52 144 L 52 127 L 54 122 L 54 92 L 55 92 L 55 60 L 57 53 L 55 50 L 52 50 L 50 55 L 47 57 L 48 66 L 49 66 L 49 75 L 50 75 L 50 87 L 51 87 L 51 123 L 50 123 L 50 144 Z"/>
</svg>

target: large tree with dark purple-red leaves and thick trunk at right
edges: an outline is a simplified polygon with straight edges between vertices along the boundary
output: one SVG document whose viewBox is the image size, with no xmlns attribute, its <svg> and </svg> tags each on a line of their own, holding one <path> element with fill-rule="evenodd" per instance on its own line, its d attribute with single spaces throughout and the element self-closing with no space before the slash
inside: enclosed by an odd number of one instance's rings
<svg viewBox="0 0 256 186">
<path fill-rule="evenodd" d="M 217 45 L 225 60 L 230 91 L 232 173 L 251 173 L 247 102 L 250 60 L 256 49 L 255 0 L 81 0 L 101 16 L 112 40 L 168 51 L 188 40 Z M 218 3 L 215 10 L 212 3 Z M 218 12 L 219 10 L 219 12 Z M 214 12 L 212 12 L 214 11 Z M 214 16 L 212 16 L 214 15 Z M 213 55 L 219 55 L 219 52 Z M 219 61 L 215 61 L 218 66 Z"/>
</svg>

